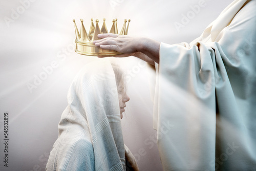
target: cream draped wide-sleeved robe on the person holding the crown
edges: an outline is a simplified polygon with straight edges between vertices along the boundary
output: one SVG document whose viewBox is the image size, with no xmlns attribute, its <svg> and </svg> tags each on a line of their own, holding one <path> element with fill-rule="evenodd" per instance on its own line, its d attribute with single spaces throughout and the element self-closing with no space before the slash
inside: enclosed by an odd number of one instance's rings
<svg viewBox="0 0 256 171">
<path fill-rule="evenodd" d="M 161 43 L 154 128 L 164 170 L 256 169 L 256 1 L 194 41 Z"/>
</svg>

